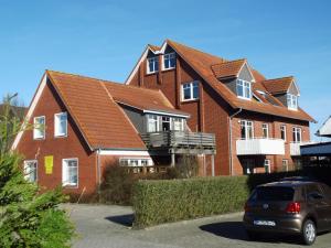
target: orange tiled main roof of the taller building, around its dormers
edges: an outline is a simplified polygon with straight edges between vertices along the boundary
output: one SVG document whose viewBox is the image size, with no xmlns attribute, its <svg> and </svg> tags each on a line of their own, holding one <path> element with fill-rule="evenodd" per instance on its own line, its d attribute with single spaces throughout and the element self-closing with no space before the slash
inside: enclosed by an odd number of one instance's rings
<svg viewBox="0 0 331 248">
<path fill-rule="evenodd" d="M 306 121 L 314 121 L 306 111 L 299 108 L 297 111 L 289 110 L 287 107 L 280 104 L 279 100 L 274 98 L 271 95 L 268 95 L 268 98 L 271 100 L 266 103 L 259 101 L 247 101 L 238 98 L 231 89 L 228 89 L 224 84 L 221 84 L 220 80 L 214 75 L 212 66 L 215 64 L 222 64 L 226 62 L 222 57 L 217 57 L 192 47 L 188 47 L 183 44 L 167 40 L 167 43 L 212 87 L 217 94 L 224 98 L 228 105 L 233 108 L 243 108 L 249 111 L 263 112 L 267 115 L 281 116 L 290 119 L 299 119 Z M 265 77 L 257 71 L 252 69 L 252 73 L 256 82 L 265 80 Z M 255 86 L 256 85 L 256 86 Z M 253 87 L 259 87 L 265 89 L 264 84 L 254 83 Z M 279 104 L 275 106 L 273 101 Z"/>
</svg>

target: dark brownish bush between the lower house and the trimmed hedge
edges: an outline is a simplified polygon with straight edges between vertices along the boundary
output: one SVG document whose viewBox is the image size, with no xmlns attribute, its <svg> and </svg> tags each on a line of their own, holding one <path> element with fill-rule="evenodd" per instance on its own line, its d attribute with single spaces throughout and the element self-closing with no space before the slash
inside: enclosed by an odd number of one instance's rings
<svg viewBox="0 0 331 248">
<path fill-rule="evenodd" d="M 132 186 L 138 180 L 169 180 L 178 175 L 177 170 L 173 168 L 169 168 L 164 173 L 134 174 L 119 164 L 108 165 L 100 185 L 100 202 L 131 205 Z"/>
</svg>

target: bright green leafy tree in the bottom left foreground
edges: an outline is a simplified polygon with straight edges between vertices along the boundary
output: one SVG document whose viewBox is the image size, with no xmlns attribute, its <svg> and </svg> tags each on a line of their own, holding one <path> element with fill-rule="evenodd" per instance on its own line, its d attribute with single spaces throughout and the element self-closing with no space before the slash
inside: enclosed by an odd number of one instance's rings
<svg viewBox="0 0 331 248">
<path fill-rule="evenodd" d="M 31 128 L 11 115 L 11 100 L 4 99 L 0 115 L 0 247 L 70 247 L 74 226 L 58 208 L 61 188 L 42 194 L 24 179 L 22 155 L 10 150 L 22 127 Z"/>
</svg>

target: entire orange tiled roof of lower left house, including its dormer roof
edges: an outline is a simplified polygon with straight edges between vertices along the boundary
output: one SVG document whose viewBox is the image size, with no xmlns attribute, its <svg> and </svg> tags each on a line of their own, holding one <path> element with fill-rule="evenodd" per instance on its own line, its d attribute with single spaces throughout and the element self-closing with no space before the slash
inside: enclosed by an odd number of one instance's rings
<svg viewBox="0 0 331 248">
<path fill-rule="evenodd" d="M 158 90 L 53 71 L 46 74 L 92 149 L 146 149 L 116 100 L 143 109 L 173 110 Z"/>
</svg>

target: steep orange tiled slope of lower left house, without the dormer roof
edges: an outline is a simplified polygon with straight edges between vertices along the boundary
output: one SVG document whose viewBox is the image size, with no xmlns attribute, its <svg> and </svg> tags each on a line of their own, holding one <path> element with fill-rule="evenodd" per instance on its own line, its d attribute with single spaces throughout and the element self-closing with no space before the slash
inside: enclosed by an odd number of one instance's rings
<svg viewBox="0 0 331 248">
<path fill-rule="evenodd" d="M 103 80 L 51 71 L 46 74 L 92 149 L 146 149 Z"/>
</svg>

